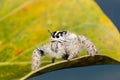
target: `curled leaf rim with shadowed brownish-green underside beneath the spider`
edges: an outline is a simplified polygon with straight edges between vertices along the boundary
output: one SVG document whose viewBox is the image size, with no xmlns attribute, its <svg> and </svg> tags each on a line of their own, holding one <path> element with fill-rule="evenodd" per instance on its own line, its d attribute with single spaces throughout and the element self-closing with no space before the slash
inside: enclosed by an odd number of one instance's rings
<svg viewBox="0 0 120 80">
<path fill-rule="evenodd" d="M 26 80 L 31 77 L 35 77 L 35 76 L 42 75 L 44 73 L 59 70 L 59 69 L 83 67 L 83 66 L 90 66 L 90 65 L 104 65 L 104 64 L 120 64 L 120 62 L 104 55 L 96 55 L 94 57 L 84 56 L 84 57 L 75 58 L 69 62 L 67 60 L 64 60 L 64 61 L 60 61 L 57 63 L 53 63 L 50 65 L 41 67 L 39 68 L 39 70 L 29 73 L 28 75 L 21 78 L 20 80 Z"/>
</svg>

